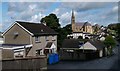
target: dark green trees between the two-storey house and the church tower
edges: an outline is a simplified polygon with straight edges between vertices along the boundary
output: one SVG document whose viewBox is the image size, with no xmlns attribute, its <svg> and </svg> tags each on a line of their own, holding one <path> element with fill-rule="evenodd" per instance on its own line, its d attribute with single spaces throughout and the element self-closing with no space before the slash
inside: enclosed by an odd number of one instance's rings
<svg viewBox="0 0 120 71">
<path fill-rule="evenodd" d="M 45 16 L 40 20 L 41 23 L 46 22 L 46 25 L 50 27 L 51 29 L 54 29 L 58 33 L 58 50 L 60 47 L 62 47 L 62 42 L 64 39 L 67 38 L 67 34 L 70 34 L 72 32 L 71 24 L 66 25 L 65 27 L 61 28 L 61 25 L 59 23 L 59 18 L 55 14 L 49 14 L 48 16 Z"/>
</svg>

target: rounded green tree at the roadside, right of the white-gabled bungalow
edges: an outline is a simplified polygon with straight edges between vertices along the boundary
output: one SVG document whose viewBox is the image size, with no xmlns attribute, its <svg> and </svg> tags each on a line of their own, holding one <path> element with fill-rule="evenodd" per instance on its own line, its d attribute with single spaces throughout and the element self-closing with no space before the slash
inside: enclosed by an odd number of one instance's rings
<svg viewBox="0 0 120 71">
<path fill-rule="evenodd" d="M 108 54 L 112 54 L 112 50 L 116 45 L 115 39 L 109 35 L 106 36 L 105 40 L 104 40 L 104 44 L 106 45 L 106 47 L 108 48 Z"/>
</svg>

